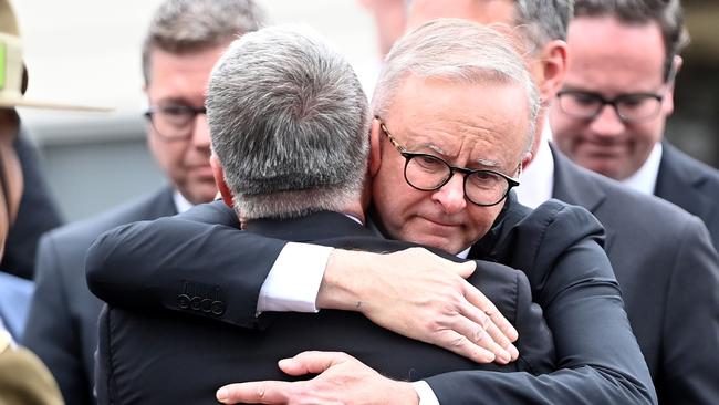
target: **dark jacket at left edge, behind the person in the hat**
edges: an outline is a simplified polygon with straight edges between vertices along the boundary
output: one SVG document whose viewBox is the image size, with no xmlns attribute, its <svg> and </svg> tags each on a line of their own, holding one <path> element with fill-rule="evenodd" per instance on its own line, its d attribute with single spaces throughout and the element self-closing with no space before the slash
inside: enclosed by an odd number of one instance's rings
<svg viewBox="0 0 719 405">
<path fill-rule="evenodd" d="M 40 236 L 62 225 L 63 219 L 40 170 L 38 153 L 22 127 L 14 142 L 25 187 L 20 208 L 8 233 L 2 271 L 32 280 Z"/>
</svg>

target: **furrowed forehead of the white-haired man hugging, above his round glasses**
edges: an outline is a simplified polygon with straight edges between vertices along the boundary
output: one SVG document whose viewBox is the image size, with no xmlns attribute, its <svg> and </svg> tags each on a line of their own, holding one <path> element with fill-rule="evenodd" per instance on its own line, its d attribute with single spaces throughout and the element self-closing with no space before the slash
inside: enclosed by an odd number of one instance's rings
<svg viewBox="0 0 719 405">
<path fill-rule="evenodd" d="M 413 152 L 428 148 L 462 160 L 458 164 L 494 162 L 498 168 L 509 169 L 528 144 L 527 104 L 519 84 L 409 76 L 395 94 L 386 120 Z"/>
</svg>

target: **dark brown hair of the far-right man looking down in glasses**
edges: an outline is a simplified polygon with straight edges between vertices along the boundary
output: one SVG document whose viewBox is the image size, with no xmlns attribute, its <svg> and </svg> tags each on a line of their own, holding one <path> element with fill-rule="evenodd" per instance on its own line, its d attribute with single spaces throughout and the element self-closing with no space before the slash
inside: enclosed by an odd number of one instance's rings
<svg viewBox="0 0 719 405">
<path fill-rule="evenodd" d="M 656 23 L 666 55 L 663 73 L 665 80 L 673 79 L 674 56 L 690 41 L 679 0 L 576 0 L 575 3 L 574 17 L 612 17 L 626 24 Z"/>
</svg>

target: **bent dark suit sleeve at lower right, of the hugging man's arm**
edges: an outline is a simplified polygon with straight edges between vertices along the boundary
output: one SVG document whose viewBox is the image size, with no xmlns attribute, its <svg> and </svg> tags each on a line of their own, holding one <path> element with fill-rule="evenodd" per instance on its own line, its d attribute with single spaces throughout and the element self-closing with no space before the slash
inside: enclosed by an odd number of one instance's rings
<svg viewBox="0 0 719 405">
<path fill-rule="evenodd" d="M 559 371 L 454 372 L 427 378 L 441 404 L 650 404 L 649 371 L 624 311 L 618 284 L 584 209 L 550 201 L 524 221 L 512 249 L 531 269 L 534 301 L 554 335 Z M 518 229 L 519 229 L 518 228 Z M 525 236 L 532 238 L 522 239 Z M 511 239 L 511 238 L 510 238 Z M 469 390 L 468 387 L 472 387 Z"/>
</svg>

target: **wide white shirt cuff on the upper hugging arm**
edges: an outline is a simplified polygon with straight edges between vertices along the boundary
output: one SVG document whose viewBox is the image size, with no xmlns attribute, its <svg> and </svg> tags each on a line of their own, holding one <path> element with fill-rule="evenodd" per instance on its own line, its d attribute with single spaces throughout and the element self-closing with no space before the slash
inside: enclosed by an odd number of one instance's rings
<svg viewBox="0 0 719 405">
<path fill-rule="evenodd" d="M 268 274 L 257 303 L 258 314 L 317 312 L 315 302 L 330 253 L 334 248 L 289 242 Z"/>
</svg>

